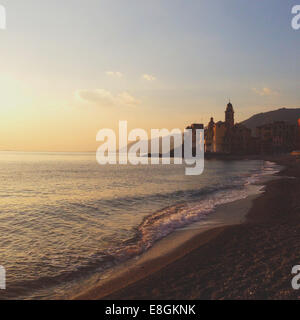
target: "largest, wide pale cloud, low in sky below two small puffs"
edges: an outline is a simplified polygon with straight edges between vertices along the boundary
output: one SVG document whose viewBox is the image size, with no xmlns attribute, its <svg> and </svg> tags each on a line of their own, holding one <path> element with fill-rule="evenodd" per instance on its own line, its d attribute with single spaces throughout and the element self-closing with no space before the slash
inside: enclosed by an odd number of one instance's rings
<svg viewBox="0 0 300 320">
<path fill-rule="evenodd" d="M 104 89 L 80 90 L 75 96 L 83 102 L 92 103 L 99 107 L 111 106 L 129 106 L 134 107 L 140 104 L 140 101 L 124 91 L 120 94 L 113 95 Z"/>
</svg>

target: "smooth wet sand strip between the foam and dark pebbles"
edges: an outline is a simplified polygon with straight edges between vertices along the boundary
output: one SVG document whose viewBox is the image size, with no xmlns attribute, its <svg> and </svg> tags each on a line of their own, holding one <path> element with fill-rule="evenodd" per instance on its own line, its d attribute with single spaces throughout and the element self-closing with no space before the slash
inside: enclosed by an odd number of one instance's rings
<svg viewBox="0 0 300 320">
<path fill-rule="evenodd" d="M 269 177 L 272 179 L 272 176 Z M 109 277 L 99 281 L 88 290 L 73 296 L 73 299 L 114 299 L 114 294 L 176 263 L 192 251 L 218 237 L 228 227 L 246 223 L 246 216 L 253 201 L 261 194 L 226 203 L 217 207 L 207 221 L 199 221 L 179 229 L 161 239 L 140 257 L 117 267 Z M 125 295 L 126 298 L 126 295 Z M 137 297 L 138 298 L 138 297 Z M 119 297 L 117 299 L 123 299 Z"/>
</svg>

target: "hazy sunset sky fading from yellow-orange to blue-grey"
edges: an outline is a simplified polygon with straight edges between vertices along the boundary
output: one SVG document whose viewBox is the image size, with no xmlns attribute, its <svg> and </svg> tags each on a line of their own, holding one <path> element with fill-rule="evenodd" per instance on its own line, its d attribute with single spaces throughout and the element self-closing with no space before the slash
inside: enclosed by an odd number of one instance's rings
<svg viewBox="0 0 300 320">
<path fill-rule="evenodd" d="M 300 0 L 0 0 L 0 150 L 300 107 Z"/>
</svg>

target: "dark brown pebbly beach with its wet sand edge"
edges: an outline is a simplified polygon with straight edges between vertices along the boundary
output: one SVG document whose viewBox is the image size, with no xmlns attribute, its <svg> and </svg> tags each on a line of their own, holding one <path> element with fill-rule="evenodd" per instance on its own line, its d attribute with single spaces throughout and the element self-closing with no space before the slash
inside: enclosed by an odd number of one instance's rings
<svg viewBox="0 0 300 320">
<path fill-rule="evenodd" d="M 257 197 L 223 206 L 221 216 L 242 211 L 228 224 L 166 238 L 144 261 L 74 298 L 298 299 L 291 270 L 300 261 L 300 160 L 266 160 L 285 167 L 280 179 Z"/>
</svg>

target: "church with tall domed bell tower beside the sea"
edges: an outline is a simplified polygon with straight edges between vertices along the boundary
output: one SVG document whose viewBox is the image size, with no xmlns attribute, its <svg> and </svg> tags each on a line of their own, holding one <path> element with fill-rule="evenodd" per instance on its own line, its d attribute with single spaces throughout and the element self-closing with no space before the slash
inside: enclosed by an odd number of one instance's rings
<svg viewBox="0 0 300 320">
<path fill-rule="evenodd" d="M 219 154 L 247 154 L 253 149 L 251 130 L 234 123 L 234 110 L 227 104 L 225 121 L 214 122 L 211 118 L 205 128 L 205 152 Z"/>
</svg>

